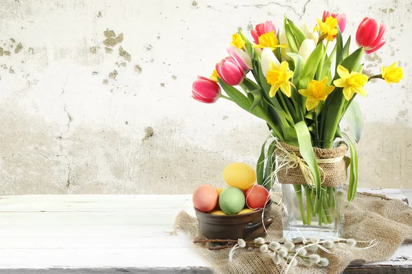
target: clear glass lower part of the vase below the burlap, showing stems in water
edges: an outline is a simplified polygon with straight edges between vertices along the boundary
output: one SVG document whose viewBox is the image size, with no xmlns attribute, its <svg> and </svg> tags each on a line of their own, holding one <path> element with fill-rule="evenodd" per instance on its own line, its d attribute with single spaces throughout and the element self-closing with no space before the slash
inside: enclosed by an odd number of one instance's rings
<svg viewBox="0 0 412 274">
<path fill-rule="evenodd" d="M 318 200 L 307 184 L 281 184 L 284 238 L 337 236 L 343 226 L 343 185 L 323 186 Z"/>
</svg>

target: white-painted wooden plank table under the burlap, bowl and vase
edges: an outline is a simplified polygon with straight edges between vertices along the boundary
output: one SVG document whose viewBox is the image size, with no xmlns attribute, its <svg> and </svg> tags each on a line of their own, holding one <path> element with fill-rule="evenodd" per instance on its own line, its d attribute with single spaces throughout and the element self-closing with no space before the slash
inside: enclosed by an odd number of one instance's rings
<svg viewBox="0 0 412 274">
<path fill-rule="evenodd" d="M 173 232 L 180 210 L 194 214 L 191 195 L 0 197 L 0 273 L 211 273 Z M 412 273 L 412 245 L 345 273 L 393 271 Z"/>
</svg>

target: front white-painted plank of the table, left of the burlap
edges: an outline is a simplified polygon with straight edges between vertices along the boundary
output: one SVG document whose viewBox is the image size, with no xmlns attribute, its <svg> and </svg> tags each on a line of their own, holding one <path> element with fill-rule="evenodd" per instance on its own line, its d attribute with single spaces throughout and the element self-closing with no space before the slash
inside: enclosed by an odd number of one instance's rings
<svg viewBox="0 0 412 274">
<path fill-rule="evenodd" d="M 207 266 L 192 249 L 0 249 L 0 269 Z"/>
</svg>

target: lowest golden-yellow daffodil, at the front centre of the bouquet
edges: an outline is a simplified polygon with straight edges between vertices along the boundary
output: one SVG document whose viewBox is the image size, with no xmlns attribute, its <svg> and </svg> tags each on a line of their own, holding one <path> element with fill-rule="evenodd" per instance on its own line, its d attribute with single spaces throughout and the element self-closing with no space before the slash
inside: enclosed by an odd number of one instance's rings
<svg viewBox="0 0 412 274">
<path fill-rule="evenodd" d="M 306 99 L 306 109 L 308 111 L 316 108 L 319 101 L 326 100 L 326 97 L 334 90 L 334 86 L 326 86 L 326 83 L 328 83 L 328 77 L 323 78 L 320 82 L 311 80 L 306 90 L 299 90 L 301 95 L 308 97 Z"/>
</svg>

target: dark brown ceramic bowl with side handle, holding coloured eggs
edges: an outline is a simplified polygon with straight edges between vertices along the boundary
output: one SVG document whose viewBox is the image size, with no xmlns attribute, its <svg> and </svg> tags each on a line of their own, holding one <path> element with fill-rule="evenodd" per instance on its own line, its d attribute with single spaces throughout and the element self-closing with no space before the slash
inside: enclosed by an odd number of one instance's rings
<svg viewBox="0 0 412 274">
<path fill-rule="evenodd" d="M 265 207 L 263 223 L 266 229 L 274 221 L 271 216 L 271 204 L 272 201 Z M 214 215 L 196 208 L 194 210 L 203 236 L 208 239 L 253 240 L 264 234 L 263 209 L 239 215 Z"/>
</svg>

